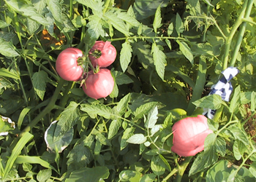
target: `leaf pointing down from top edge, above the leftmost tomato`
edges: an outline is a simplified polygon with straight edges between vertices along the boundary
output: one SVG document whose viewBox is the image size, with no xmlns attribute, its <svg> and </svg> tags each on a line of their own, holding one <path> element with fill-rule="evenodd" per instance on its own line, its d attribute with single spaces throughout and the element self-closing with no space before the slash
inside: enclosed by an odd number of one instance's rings
<svg viewBox="0 0 256 182">
<path fill-rule="evenodd" d="M 60 0 L 47 0 L 48 8 L 52 13 L 55 20 L 59 23 L 62 23 L 62 9 L 61 9 L 61 1 Z"/>
</svg>

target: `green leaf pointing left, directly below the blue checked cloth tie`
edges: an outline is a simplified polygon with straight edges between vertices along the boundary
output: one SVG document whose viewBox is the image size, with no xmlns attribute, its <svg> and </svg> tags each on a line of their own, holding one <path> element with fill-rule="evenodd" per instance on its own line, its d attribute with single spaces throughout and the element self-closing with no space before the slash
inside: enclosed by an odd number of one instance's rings
<svg viewBox="0 0 256 182">
<path fill-rule="evenodd" d="M 193 104 L 200 108 L 218 109 L 222 106 L 222 102 L 222 97 L 220 95 L 213 94 L 200 98 L 199 100 L 194 101 Z"/>
</svg>

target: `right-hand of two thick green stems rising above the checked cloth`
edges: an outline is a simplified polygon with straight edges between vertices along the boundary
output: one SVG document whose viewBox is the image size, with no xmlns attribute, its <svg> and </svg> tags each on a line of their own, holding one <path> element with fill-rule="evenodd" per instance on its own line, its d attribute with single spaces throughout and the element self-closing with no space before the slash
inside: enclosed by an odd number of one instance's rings
<svg viewBox="0 0 256 182">
<path fill-rule="evenodd" d="M 250 15 L 250 13 L 252 11 L 253 2 L 254 2 L 253 0 L 249 0 L 248 1 L 244 18 L 241 19 L 242 21 L 244 21 L 244 19 L 247 19 L 249 17 L 249 15 Z M 239 49 L 241 47 L 241 42 L 243 41 L 244 32 L 246 30 L 246 25 L 247 25 L 247 23 L 244 21 L 241 24 L 241 27 L 239 28 L 238 39 L 236 41 L 236 47 L 235 47 L 235 50 L 233 50 L 233 56 L 232 56 L 232 58 L 230 60 L 230 66 L 231 67 L 235 66 L 236 58 L 238 56 L 238 52 L 239 52 Z"/>
</svg>

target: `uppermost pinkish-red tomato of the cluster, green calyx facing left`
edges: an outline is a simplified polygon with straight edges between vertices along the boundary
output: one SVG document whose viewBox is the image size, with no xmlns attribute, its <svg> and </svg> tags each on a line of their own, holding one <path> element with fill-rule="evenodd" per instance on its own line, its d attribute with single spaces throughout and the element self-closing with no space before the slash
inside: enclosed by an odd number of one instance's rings
<svg viewBox="0 0 256 182">
<path fill-rule="evenodd" d="M 116 48 L 110 41 L 96 41 L 89 51 L 89 58 L 94 67 L 106 68 L 116 59 Z"/>
</svg>

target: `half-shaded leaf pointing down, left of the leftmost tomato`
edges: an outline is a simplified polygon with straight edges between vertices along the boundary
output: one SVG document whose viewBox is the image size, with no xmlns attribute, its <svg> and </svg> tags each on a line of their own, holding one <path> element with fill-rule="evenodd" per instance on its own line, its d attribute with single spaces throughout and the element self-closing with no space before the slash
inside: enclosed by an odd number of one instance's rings
<svg viewBox="0 0 256 182">
<path fill-rule="evenodd" d="M 45 96 L 45 87 L 48 82 L 48 74 L 45 71 L 38 71 L 32 76 L 32 83 L 34 90 L 36 91 L 38 97 L 43 100 Z"/>
</svg>

